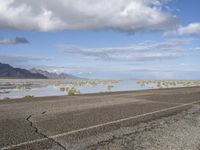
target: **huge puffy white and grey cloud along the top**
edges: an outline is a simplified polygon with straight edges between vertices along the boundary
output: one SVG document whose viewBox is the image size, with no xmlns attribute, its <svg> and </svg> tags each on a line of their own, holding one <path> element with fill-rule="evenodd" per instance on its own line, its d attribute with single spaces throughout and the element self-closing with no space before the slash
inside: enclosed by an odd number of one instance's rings
<svg viewBox="0 0 200 150">
<path fill-rule="evenodd" d="M 169 0 L 0 0 L 0 29 L 36 31 L 174 28 Z"/>
</svg>

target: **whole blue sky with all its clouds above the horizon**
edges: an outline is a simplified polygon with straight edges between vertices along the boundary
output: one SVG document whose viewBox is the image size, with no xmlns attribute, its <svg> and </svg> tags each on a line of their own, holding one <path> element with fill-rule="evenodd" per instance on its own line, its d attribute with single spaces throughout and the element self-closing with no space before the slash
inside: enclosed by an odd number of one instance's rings
<svg viewBox="0 0 200 150">
<path fill-rule="evenodd" d="M 199 0 L 0 0 L 0 62 L 92 79 L 200 79 Z"/>
</svg>

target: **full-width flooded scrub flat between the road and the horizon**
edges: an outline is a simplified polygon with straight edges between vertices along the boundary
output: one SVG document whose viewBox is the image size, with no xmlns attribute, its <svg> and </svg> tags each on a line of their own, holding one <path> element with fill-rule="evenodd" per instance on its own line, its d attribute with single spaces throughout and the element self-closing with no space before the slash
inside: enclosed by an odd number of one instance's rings
<svg viewBox="0 0 200 150">
<path fill-rule="evenodd" d="M 0 80 L 0 99 L 68 95 L 72 87 L 84 94 L 184 86 L 200 86 L 200 81 Z"/>
</svg>

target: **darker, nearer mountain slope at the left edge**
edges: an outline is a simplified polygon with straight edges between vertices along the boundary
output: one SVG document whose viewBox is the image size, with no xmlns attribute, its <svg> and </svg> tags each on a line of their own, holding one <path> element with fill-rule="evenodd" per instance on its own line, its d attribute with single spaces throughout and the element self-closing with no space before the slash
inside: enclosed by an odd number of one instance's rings
<svg viewBox="0 0 200 150">
<path fill-rule="evenodd" d="M 0 63 L 0 78 L 4 79 L 47 79 L 40 73 L 32 73 L 26 69 L 14 68 L 9 64 Z"/>
</svg>

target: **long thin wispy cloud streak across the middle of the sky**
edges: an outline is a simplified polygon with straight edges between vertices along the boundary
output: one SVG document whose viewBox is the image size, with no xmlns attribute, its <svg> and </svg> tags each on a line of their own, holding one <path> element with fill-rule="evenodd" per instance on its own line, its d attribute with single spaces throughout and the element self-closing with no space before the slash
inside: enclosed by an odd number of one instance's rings
<svg viewBox="0 0 200 150">
<path fill-rule="evenodd" d="M 60 45 L 59 48 L 65 53 L 108 61 L 152 61 L 177 58 L 188 42 L 188 39 L 173 39 L 160 43 L 144 42 L 128 47 L 81 48 Z"/>
</svg>

